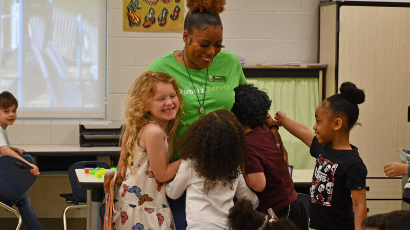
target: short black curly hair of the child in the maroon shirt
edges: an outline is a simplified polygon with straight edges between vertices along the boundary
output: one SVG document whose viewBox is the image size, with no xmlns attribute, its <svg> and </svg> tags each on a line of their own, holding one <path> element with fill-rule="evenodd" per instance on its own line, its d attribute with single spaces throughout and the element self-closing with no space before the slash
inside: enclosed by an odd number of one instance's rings
<svg viewBox="0 0 410 230">
<path fill-rule="evenodd" d="M 253 84 L 239 85 L 234 91 L 235 103 L 232 112 L 240 123 L 251 129 L 262 127 L 272 103 L 268 94 L 258 90 Z"/>
</svg>

